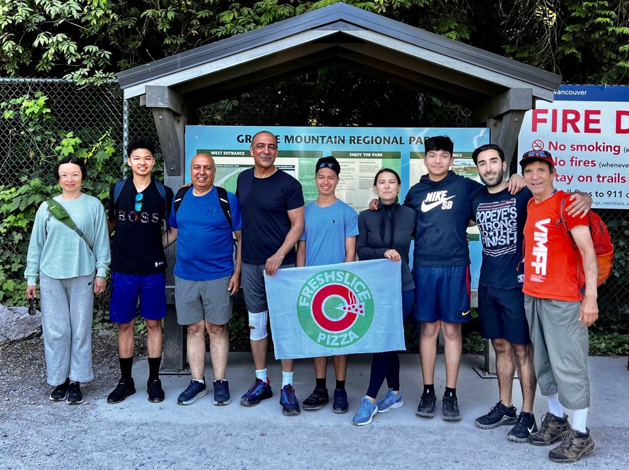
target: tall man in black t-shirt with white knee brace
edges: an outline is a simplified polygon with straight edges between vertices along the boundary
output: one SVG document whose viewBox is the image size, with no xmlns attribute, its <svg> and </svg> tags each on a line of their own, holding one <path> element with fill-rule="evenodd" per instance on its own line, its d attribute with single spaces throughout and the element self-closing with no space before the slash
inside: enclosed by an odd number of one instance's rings
<svg viewBox="0 0 629 470">
<path fill-rule="evenodd" d="M 271 398 L 267 375 L 269 306 L 264 274 L 295 266 L 295 244 L 304 231 L 304 196 L 294 177 L 276 168 L 277 138 L 269 131 L 253 136 L 254 167 L 238 175 L 236 194 L 242 208 L 242 287 L 247 305 L 255 381 L 240 404 L 255 406 Z M 299 414 L 292 387 L 292 359 L 282 359 L 282 413 Z"/>
</svg>

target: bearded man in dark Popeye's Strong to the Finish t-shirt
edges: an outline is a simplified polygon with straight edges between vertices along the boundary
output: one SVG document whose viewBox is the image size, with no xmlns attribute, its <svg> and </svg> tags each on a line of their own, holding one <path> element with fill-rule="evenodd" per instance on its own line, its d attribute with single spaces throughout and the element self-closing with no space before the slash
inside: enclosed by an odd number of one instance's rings
<svg viewBox="0 0 629 470">
<path fill-rule="evenodd" d="M 481 276 L 478 287 L 481 335 L 491 339 L 496 351 L 496 374 L 500 400 L 489 413 L 476 419 L 476 425 L 491 429 L 514 425 L 507 437 L 514 442 L 526 442 L 528 435 L 537 432 L 533 415 L 535 399 L 535 371 L 533 345 L 528 332 L 524 310 L 523 230 L 526 206 L 532 197 L 528 188 L 510 194 L 504 179 L 504 152 L 494 144 L 482 145 L 472 152 L 486 189 L 473 201 L 473 220 L 476 221 L 482 242 Z M 589 196 L 579 194 L 569 210 L 575 214 L 581 208 L 589 210 Z M 522 391 L 522 411 L 516 415 L 511 401 L 513 374 L 516 366 Z"/>
</svg>

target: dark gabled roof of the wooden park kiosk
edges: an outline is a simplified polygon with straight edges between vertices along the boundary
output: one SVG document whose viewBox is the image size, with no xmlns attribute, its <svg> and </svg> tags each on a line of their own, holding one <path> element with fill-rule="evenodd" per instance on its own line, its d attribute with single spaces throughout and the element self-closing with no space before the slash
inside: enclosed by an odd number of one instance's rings
<svg viewBox="0 0 629 470">
<path fill-rule="evenodd" d="M 200 105 L 343 65 L 474 107 L 509 89 L 553 101 L 561 77 L 344 3 L 118 74 L 125 98 L 167 86 Z"/>
</svg>

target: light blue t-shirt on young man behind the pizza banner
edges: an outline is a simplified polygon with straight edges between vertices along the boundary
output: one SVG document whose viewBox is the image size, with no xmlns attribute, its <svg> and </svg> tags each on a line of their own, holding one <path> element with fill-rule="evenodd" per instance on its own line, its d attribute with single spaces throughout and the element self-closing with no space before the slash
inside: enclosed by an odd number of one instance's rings
<svg viewBox="0 0 629 470">
<path fill-rule="evenodd" d="M 308 204 L 299 237 L 306 242 L 306 266 L 345 262 L 345 238 L 358 233 L 358 213 L 340 199 L 326 207 Z"/>
</svg>

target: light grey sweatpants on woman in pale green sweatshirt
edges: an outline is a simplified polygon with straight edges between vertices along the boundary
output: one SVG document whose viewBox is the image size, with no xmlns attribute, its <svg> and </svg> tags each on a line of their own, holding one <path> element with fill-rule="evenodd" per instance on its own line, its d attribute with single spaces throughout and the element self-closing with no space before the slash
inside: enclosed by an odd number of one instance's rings
<svg viewBox="0 0 629 470">
<path fill-rule="evenodd" d="M 92 371 L 94 276 L 54 279 L 40 272 L 43 345 L 48 384 L 89 382 Z"/>
</svg>

